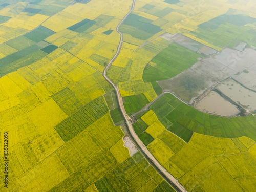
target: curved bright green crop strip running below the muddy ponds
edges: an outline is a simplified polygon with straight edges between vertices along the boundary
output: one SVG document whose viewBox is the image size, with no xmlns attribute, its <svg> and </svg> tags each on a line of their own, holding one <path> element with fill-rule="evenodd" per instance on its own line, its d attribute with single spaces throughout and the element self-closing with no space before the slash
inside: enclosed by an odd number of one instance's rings
<svg viewBox="0 0 256 192">
<path fill-rule="evenodd" d="M 164 94 L 150 109 L 166 129 L 186 142 L 193 132 L 215 137 L 247 136 L 256 139 L 256 118 L 253 115 L 232 118 L 209 115 L 181 102 L 172 94 Z"/>
</svg>

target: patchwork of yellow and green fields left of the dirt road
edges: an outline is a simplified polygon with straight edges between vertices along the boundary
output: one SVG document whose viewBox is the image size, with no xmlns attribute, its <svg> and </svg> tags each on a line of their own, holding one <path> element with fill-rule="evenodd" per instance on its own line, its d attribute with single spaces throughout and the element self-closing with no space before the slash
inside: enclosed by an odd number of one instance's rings
<svg viewBox="0 0 256 192">
<path fill-rule="evenodd" d="M 23 13 L 43 12 L 42 3 Z M 10 138 L 3 191 L 174 191 L 140 152 L 131 157 L 124 147 L 114 125 L 123 124 L 115 92 L 102 76 L 131 4 L 115 4 L 116 13 L 104 1 L 98 11 L 97 1 L 56 9 L 38 28 L 0 45 L 1 137 Z"/>
</svg>

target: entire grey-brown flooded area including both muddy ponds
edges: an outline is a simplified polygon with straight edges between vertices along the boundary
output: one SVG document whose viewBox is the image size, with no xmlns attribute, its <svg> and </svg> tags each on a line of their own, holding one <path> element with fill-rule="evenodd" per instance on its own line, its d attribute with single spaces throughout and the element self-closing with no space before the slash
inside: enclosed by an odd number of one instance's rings
<svg viewBox="0 0 256 192">
<path fill-rule="evenodd" d="M 208 56 L 200 58 L 191 68 L 167 80 L 158 81 L 164 91 L 173 93 L 200 111 L 220 116 L 234 116 L 240 113 L 234 103 L 230 103 L 211 88 L 216 87 L 245 110 L 256 110 L 256 51 L 245 48 L 240 42 L 234 49 L 225 48 L 215 53 L 212 48 L 195 44 L 182 35 L 167 36 L 165 39 L 197 51 L 208 50 Z M 189 39 L 189 38 L 188 38 Z M 206 52 L 204 52 L 206 53 Z M 230 79 L 230 77 L 232 79 Z M 254 100 L 253 100 L 254 98 Z"/>
</svg>

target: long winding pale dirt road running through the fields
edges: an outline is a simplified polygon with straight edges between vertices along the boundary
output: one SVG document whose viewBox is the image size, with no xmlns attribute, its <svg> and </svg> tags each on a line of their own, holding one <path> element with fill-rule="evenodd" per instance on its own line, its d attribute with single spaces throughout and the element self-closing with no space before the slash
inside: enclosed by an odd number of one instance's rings
<svg viewBox="0 0 256 192">
<path fill-rule="evenodd" d="M 103 71 L 103 76 L 104 78 L 112 85 L 112 87 L 115 89 L 116 95 L 117 95 L 117 100 L 119 104 L 119 108 L 121 110 L 122 116 L 125 120 L 126 123 L 126 129 L 127 132 L 129 133 L 130 139 L 134 142 L 134 144 L 139 148 L 139 150 L 142 152 L 142 154 L 145 156 L 145 158 L 156 168 L 158 173 L 170 184 L 172 185 L 177 191 L 186 191 L 185 188 L 172 176 L 170 175 L 167 170 L 156 160 L 156 158 L 150 153 L 150 151 L 147 150 L 146 146 L 142 143 L 142 141 L 139 139 L 137 134 L 135 133 L 133 126 L 132 126 L 132 119 L 126 114 L 124 106 L 123 106 L 123 101 L 121 94 L 119 92 L 119 88 L 115 85 L 114 82 L 110 80 L 110 78 L 106 75 L 106 72 L 114 62 L 114 60 L 117 58 L 117 56 L 120 53 L 122 43 L 123 43 L 123 34 L 119 31 L 119 26 L 123 23 L 124 19 L 133 11 L 135 1 L 133 0 L 133 5 L 129 13 L 127 13 L 124 18 L 121 20 L 121 22 L 118 24 L 116 31 L 121 35 L 120 37 L 120 42 L 117 48 L 117 52 L 114 55 L 114 57 L 111 59 L 109 64 L 106 66 L 106 68 Z"/>
</svg>

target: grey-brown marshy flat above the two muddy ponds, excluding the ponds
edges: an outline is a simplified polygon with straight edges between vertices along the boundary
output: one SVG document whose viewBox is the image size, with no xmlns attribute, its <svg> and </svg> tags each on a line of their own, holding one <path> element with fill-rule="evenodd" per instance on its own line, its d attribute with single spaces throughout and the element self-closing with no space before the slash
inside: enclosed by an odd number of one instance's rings
<svg viewBox="0 0 256 192">
<path fill-rule="evenodd" d="M 190 104 L 208 88 L 214 87 L 228 77 L 236 78 L 247 71 L 251 71 L 251 74 L 246 83 L 256 88 L 255 55 L 256 51 L 249 48 L 243 52 L 226 48 L 221 53 L 201 59 L 181 74 L 158 83 L 164 91 L 172 92 Z"/>
</svg>

